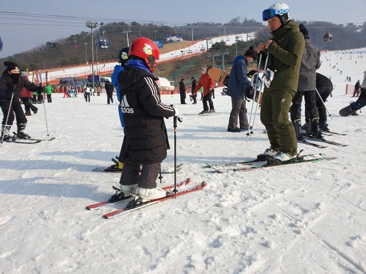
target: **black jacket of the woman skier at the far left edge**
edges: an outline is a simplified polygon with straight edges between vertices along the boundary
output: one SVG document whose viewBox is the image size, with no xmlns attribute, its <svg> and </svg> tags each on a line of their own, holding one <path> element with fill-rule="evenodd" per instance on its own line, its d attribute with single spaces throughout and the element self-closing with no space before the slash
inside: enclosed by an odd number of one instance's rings
<svg viewBox="0 0 366 274">
<path fill-rule="evenodd" d="M 10 74 L 5 70 L 0 76 L 0 101 L 10 101 L 12 93 L 14 93 L 13 101 L 19 101 L 23 88 L 30 91 L 41 90 L 39 86 L 34 85 L 22 75 L 19 75 L 18 83 L 14 83 Z"/>
</svg>

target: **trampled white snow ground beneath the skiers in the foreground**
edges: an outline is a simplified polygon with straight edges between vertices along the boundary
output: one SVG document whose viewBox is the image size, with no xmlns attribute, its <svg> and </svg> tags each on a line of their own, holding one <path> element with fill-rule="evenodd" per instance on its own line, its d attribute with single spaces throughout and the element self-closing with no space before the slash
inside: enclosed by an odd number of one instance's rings
<svg viewBox="0 0 366 274">
<path fill-rule="evenodd" d="M 306 154 L 337 159 L 214 173 L 205 162 L 249 160 L 268 146 L 259 116 L 249 142 L 243 132 L 226 131 L 231 100 L 217 89 L 217 114 L 185 115 L 177 128 L 177 158 L 185 163 L 177 180 L 191 177 L 208 186 L 113 219 L 102 214 L 124 204 L 97 211 L 85 206 L 107 199 L 119 182 L 119 174 L 92 172 L 119 153 L 117 104 L 107 105 L 105 94 L 90 103 L 82 95 L 53 94 L 46 111 L 56 139 L 0 149 L 0 273 L 366 273 L 365 113 L 338 115 L 351 100 L 346 76 L 350 84 L 362 81 L 365 48 L 362 53 L 362 59 L 355 51 L 352 59 L 322 54 L 319 69 L 336 86 L 327 102 L 330 128 L 348 134 L 327 139 L 348 146 L 299 144 Z M 178 103 L 178 96 L 162 99 Z M 178 105 L 183 113 L 202 110 L 200 101 L 187 102 Z M 43 106 L 37 107 L 27 130 L 45 137 Z M 173 147 L 172 119 L 166 126 Z M 173 165 L 173 150 L 163 165 Z M 164 175 L 163 185 L 172 182 L 172 174 Z"/>
</svg>

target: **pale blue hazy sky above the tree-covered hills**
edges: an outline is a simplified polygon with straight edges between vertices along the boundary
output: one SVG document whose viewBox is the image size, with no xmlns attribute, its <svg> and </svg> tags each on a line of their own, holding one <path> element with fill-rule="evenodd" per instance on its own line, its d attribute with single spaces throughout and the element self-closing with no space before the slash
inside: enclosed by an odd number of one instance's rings
<svg viewBox="0 0 366 274">
<path fill-rule="evenodd" d="M 19 3 L 19 5 L 15 5 Z M 124 1 L 124 0 L 0 0 L 2 12 L 22 12 L 48 15 L 110 18 L 135 21 L 162 21 L 176 23 L 195 23 L 199 21 L 227 23 L 240 16 L 242 19 L 262 21 L 262 11 L 275 2 L 271 0 L 157 0 L 157 1 Z M 329 21 L 334 24 L 357 23 L 366 21 L 366 0 L 287 0 L 291 9 L 291 19 L 305 21 Z M 9 19 L 17 18 L 17 19 Z M 9 16 L 0 13 L 0 36 L 4 43 L 0 57 L 32 49 L 46 41 L 67 37 L 70 34 L 88 31 L 85 21 L 80 26 L 53 26 L 54 22 L 40 22 L 21 19 L 42 19 L 36 17 Z M 42 20 L 52 21 L 52 18 Z M 76 21 L 58 19 L 73 25 Z M 99 20 L 96 20 L 99 21 Z M 100 20 L 99 22 L 102 22 Z M 19 24 L 19 25 L 17 25 Z M 44 26 L 25 25 L 44 24 Z"/>
</svg>

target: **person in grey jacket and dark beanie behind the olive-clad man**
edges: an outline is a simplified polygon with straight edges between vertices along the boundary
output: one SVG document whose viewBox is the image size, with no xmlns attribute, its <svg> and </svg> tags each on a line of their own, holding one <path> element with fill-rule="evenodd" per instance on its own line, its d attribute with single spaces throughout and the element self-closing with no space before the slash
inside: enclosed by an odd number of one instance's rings
<svg viewBox="0 0 366 274">
<path fill-rule="evenodd" d="M 292 100 L 290 108 L 291 122 L 294 124 L 296 137 L 303 141 L 304 137 L 301 134 L 301 103 L 302 96 L 305 98 L 305 112 L 309 119 L 309 129 L 304 135 L 312 135 L 316 138 L 321 138 L 322 131 L 320 130 L 319 112 L 316 106 L 316 70 L 320 67 L 320 52 L 313 44 L 310 43 L 309 33 L 304 25 L 300 24 L 299 29 L 305 40 L 305 50 L 301 57 L 301 66 L 299 72 L 298 90 Z M 325 129 L 326 124 L 321 125 Z"/>
</svg>

